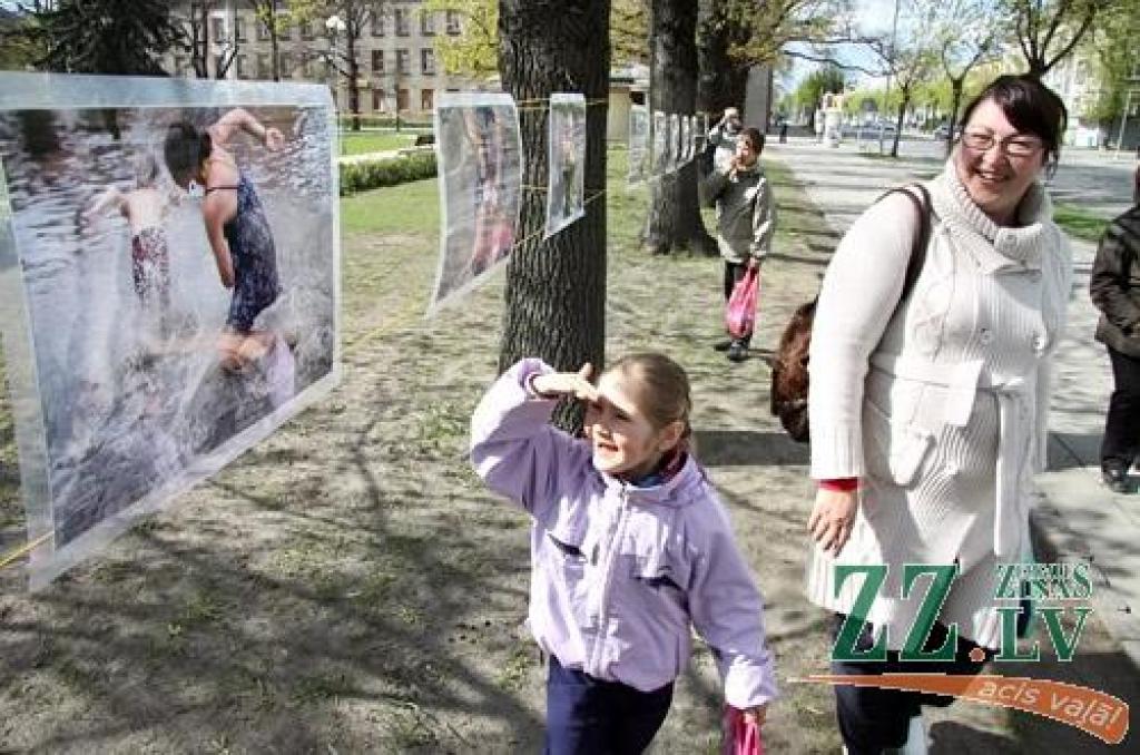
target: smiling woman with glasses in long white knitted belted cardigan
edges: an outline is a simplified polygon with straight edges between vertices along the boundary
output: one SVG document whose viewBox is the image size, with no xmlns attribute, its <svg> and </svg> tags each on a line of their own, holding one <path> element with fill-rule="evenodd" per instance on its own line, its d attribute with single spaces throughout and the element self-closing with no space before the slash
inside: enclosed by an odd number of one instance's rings
<svg viewBox="0 0 1140 755">
<path fill-rule="evenodd" d="M 1049 366 L 1073 277 L 1068 243 L 1040 182 L 1056 164 L 1065 107 L 1040 82 L 1001 76 L 966 109 L 961 140 L 926 184 L 925 260 L 903 294 L 915 228 L 897 193 L 869 209 L 828 267 L 812 334 L 812 476 L 816 545 L 808 596 L 861 643 L 886 636 L 887 663 L 836 661 L 837 674 L 977 673 L 1000 644 L 1001 563 L 1032 560 L 1031 477 L 1044 463 Z M 857 292 L 857 295 L 852 295 Z M 881 594 L 855 609 L 858 581 L 839 567 L 887 567 Z M 903 565 L 953 569 L 925 650 L 901 660 L 925 591 L 904 595 Z M 865 614 L 865 615 L 864 615 Z M 844 624 L 838 622 L 837 627 Z M 971 652 L 972 651 L 972 652 Z M 922 705 L 951 698 L 836 688 L 850 753 L 925 752 Z M 911 749 L 913 747 L 914 749 Z"/>
</svg>

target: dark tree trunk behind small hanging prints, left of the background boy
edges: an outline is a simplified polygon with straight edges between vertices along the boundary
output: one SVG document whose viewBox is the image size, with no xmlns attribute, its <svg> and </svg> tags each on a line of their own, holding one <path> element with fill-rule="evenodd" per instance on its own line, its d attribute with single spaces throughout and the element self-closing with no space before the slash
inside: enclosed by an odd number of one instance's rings
<svg viewBox="0 0 1140 755">
<path fill-rule="evenodd" d="M 652 0 L 653 91 L 651 111 L 687 114 L 697 107 L 697 3 Z M 675 140 L 674 140 L 675 143 Z M 712 253 L 715 244 L 701 220 L 697 162 L 650 184 L 645 246 L 652 254 L 695 247 Z"/>
</svg>

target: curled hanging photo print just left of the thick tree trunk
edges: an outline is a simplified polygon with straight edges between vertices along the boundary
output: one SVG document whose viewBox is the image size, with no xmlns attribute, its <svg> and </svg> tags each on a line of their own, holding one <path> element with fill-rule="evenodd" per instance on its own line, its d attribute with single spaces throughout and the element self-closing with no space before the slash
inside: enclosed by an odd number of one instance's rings
<svg viewBox="0 0 1140 755">
<path fill-rule="evenodd" d="M 427 314 L 470 290 L 514 246 L 522 139 L 503 92 L 443 92 L 435 105 L 440 261 Z"/>
</svg>

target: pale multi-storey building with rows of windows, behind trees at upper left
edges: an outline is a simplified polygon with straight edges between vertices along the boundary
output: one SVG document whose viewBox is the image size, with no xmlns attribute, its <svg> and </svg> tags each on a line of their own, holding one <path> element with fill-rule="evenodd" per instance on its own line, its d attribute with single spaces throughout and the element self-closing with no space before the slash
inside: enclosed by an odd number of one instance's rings
<svg viewBox="0 0 1140 755">
<path fill-rule="evenodd" d="M 431 113 L 439 92 L 472 88 L 470 81 L 447 75 L 437 60 L 435 40 L 440 35 L 463 33 L 459 14 L 422 13 L 421 6 L 420 0 L 386 3 L 385 13 L 372 18 L 356 40 L 361 114 L 394 115 L 398 111 L 400 115 L 423 116 Z M 196 42 L 197 57 L 205 63 L 210 78 L 272 80 L 270 33 L 251 3 L 244 0 L 207 2 L 205 34 L 201 30 L 201 0 L 177 2 L 174 14 L 186 30 L 186 38 Z M 280 79 L 326 82 L 333 88 L 337 106 L 347 111 L 348 82 L 329 62 L 335 58 L 342 70 L 347 68 L 343 21 L 329 16 L 287 23 L 287 16 L 282 16 L 278 27 Z M 166 68 L 174 75 L 194 76 L 194 58 L 187 50 L 173 51 L 166 56 Z"/>
</svg>

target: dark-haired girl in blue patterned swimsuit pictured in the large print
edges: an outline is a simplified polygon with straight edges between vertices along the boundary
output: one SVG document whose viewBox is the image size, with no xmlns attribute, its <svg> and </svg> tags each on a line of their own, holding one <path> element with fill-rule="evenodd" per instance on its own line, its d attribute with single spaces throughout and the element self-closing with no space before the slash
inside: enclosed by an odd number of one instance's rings
<svg viewBox="0 0 1140 755">
<path fill-rule="evenodd" d="M 245 132 L 267 149 L 280 149 L 280 130 L 262 125 L 249 112 L 234 108 L 199 130 L 186 121 L 166 132 L 163 152 L 174 182 L 203 187 L 202 219 L 218 265 L 218 275 L 234 290 L 226 331 L 219 339 L 221 364 L 241 372 L 270 351 L 287 351 L 283 339 L 255 331 L 254 320 L 280 294 L 272 230 L 253 182 L 226 145 Z"/>
</svg>

